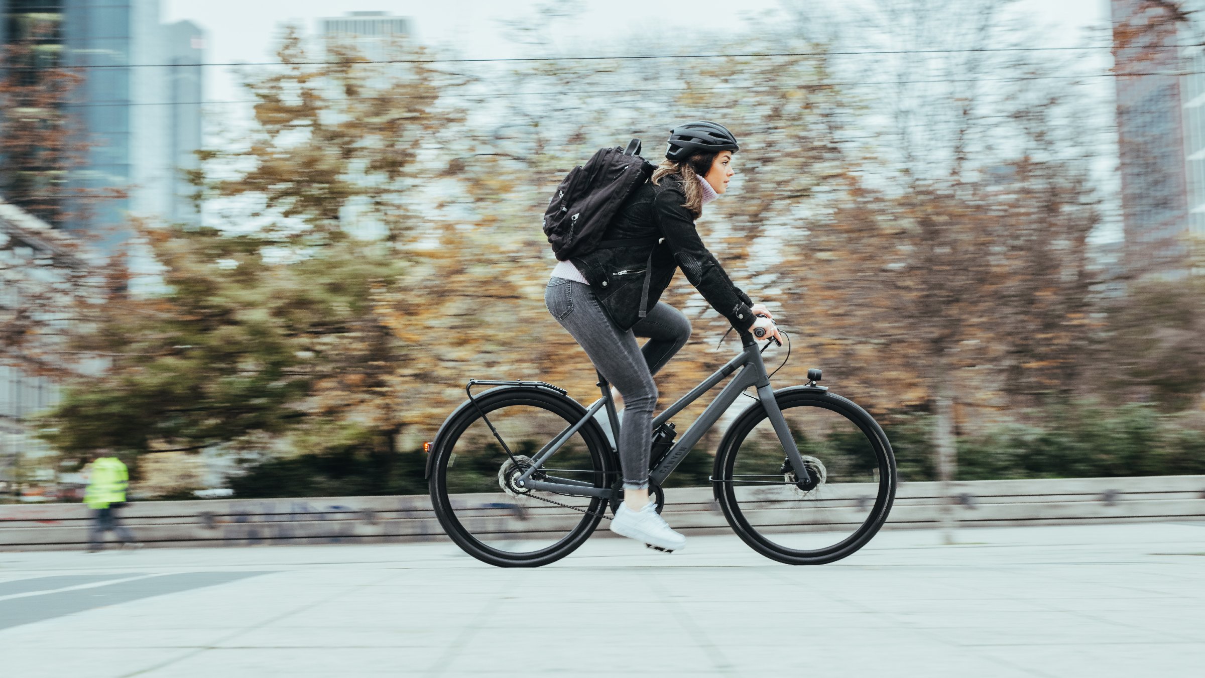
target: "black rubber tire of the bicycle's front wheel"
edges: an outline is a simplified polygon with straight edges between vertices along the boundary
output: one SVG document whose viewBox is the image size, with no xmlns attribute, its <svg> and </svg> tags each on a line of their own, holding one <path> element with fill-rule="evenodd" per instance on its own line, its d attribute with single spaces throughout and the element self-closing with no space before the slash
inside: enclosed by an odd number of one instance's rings
<svg viewBox="0 0 1205 678">
<path fill-rule="evenodd" d="M 878 530 L 887 521 L 892 505 L 895 502 L 895 489 L 898 475 L 895 470 L 895 455 L 892 451 L 890 442 L 878 422 L 870 416 L 866 410 L 858 407 L 848 398 L 844 398 L 828 391 L 818 390 L 782 390 L 776 393 L 780 409 L 789 409 L 799 403 L 805 407 L 819 407 L 845 416 L 853 422 L 871 442 L 880 463 L 880 487 L 875 497 L 875 505 L 869 513 L 865 522 L 859 528 L 837 544 L 817 549 L 815 551 L 801 551 L 775 544 L 763 537 L 745 519 L 740 504 L 736 502 L 735 486 L 733 483 L 716 483 L 713 491 L 724 512 L 728 525 L 731 526 L 736 536 L 741 538 L 754 551 L 778 562 L 787 565 L 824 565 L 848 557 L 866 545 L 878 533 Z M 759 404 L 750 407 L 740 414 L 719 444 L 716 454 L 716 466 L 713 478 L 719 480 L 731 480 L 733 464 L 736 461 L 736 451 L 740 449 L 745 437 L 765 419 L 765 408 Z M 887 473 L 883 473 L 883 472 Z"/>
</svg>

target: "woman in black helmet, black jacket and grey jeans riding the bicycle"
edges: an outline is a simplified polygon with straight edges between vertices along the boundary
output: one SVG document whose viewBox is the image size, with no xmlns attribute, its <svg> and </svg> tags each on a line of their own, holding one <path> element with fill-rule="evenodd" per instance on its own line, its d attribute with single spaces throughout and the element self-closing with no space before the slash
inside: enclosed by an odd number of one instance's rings
<svg viewBox="0 0 1205 678">
<path fill-rule="evenodd" d="M 659 302 L 674 271 L 687 280 L 739 331 L 762 327 L 778 338 L 770 311 L 754 304 L 699 239 L 694 220 L 728 191 L 733 153 L 740 147 L 724 125 L 698 121 L 670 131 L 665 160 L 635 189 L 607 226 L 607 240 L 662 238 L 657 245 L 599 249 L 559 262 L 545 292 L 548 312 L 582 346 L 599 373 L 623 396 L 619 463 L 623 504 L 611 531 L 665 550 L 686 537 L 648 501 L 648 457 L 657 385 L 653 374 L 690 338 L 690 321 Z M 652 251 L 651 251 L 652 250 Z M 648 267 L 646 270 L 646 262 Z M 636 337 L 646 337 L 642 347 Z"/>
</svg>

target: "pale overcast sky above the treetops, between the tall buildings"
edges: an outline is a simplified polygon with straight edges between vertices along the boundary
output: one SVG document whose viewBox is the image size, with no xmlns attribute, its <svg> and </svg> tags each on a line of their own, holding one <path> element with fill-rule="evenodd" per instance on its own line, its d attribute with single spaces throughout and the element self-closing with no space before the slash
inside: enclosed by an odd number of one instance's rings
<svg viewBox="0 0 1205 678">
<path fill-rule="evenodd" d="M 731 30 L 742 33 L 754 23 L 772 22 L 784 16 L 784 6 L 841 14 L 851 5 L 876 0 L 586 0 L 580 16 L 557 23 L 564 52 L 572 54 L 621 54 L 623 47 L 615 36 L 671 37 L 689 51 L 704 33 Z M 947 2 L 929 0 L 934 12 Z M 351 11 L 381 11 L 411 19 L 415 36 L 423 43 L 452 51 L 468 58 L 506 58 L 524 55 L 523 47 L 505 35 L 505 22 L 531 17 L 547 0 L 163 0 L 161 21 L 189 19 L 206 31 L 205 60 L 213 64 L 272 60 L 272 53 L 286 23 L 299 24 L 307 34 L 317 31 L 322 17 L 340 17 Z M 1089 42 L 1087 29 L 1098 34 L 1095 45 L 1106 45 L 1109 0 L 1016 0 L 1013 19 L 1028 27 L 1027 43 L 1034 47 L 1078 47 Z M 1031 36 L 1031 37 L 1029 37 Z M 857 36 L 842 36 L 842 48 L 859 49 Z M 630 43 L 630 42 L 629 42 Z M 935 48 L 940 47 L 937 45 Z M 556 48 L 554 48 L 556 49 Z M 665 53 L 658 48 L 657 53 Z M 672 51 L 670 51 L 672 52 Z M 1054 52 L 1052 59 L 1075 55 L 1076 72 L 1107 72 L 1112 59 L 1107 49 L 1092 52 Z M 863 57 L 845 57 L 862 64 Z M 881 57 L 865 57 L 875 59 Z M 871 64 L 872 65 L 872 64 Z M 1111 78 L 1088 78 L 1080 87 L 1092 101 L 1089 107 L 1101 116 L 1112 116 Z M 237 84 L 234 69 L 212 66 L 205 70 L 205 100 L 211 133 L 230 131 L 249 119 L 247 94 Z M 221 104 L 230 101 L 230 104 Z M 207 144 L 219 144 L 210 138 Z M 1115 140 L 1103 139 L 1098 157 L 1103 177 L 1116 166 Z M 1112 177 L 1116 179 L 1116 177 Z M 1117 235 L 1115 227 L 1101 230 L 1105 239 Z"/>
</svg>

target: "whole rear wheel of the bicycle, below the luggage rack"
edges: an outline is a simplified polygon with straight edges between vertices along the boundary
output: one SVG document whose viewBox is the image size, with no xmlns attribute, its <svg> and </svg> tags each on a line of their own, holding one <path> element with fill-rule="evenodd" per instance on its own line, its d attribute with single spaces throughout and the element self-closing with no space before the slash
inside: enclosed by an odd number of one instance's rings
<svg viewBox="0 0 1205 678">
<path fill-rule="evenodd" d="M 431 450 L 431 504 L 440 525 L 465 553 L 499 567 L 539 567 L 565 557 L 598 526 L 606 501 L 523 490 L 513 479 L 530 468 L 545 444 L 584 417 L 586 409 L 559 393 L 527 386 L 493 388 L 476 403 L 452 415 Z M 590 421 L 535 478 L 609 487 L 610 457 L 606 438 Z"/>
</svg>

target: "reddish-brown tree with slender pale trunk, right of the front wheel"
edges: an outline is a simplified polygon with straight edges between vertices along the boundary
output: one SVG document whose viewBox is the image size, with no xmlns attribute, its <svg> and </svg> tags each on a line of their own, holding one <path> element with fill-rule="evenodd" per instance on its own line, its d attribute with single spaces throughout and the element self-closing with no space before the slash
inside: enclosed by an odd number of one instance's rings
<svg viewBox="0 0 1205 678">
<path fill-rule="evenodd" d="M 947 484 L 959 402 L 999 410 L 1019 392 L 1069 393 L 1089 337 L 1091 152 L 1074 109 L 1031 80 L 1048 66 L 978 49 L 995 45 L 1007 5 L 875 4 L 859 35 L 899 53 L 874 69 L 892 83 L 876 106 L 887 116 L 862 121 L 880 131 L 871 159 L 845 164 L 865 174 L 839 179 L 848 199 L 807 244 L 812 287 L 845 314 L 841 343 L 884 376 L 909 375 L 894 401 L 933 413 Z"/>
</svg>

